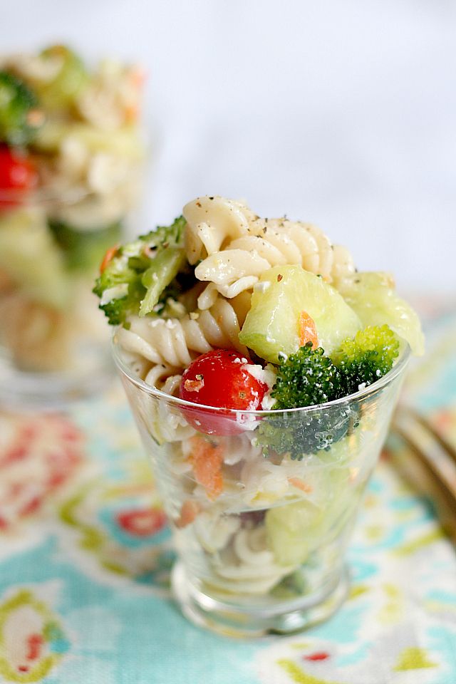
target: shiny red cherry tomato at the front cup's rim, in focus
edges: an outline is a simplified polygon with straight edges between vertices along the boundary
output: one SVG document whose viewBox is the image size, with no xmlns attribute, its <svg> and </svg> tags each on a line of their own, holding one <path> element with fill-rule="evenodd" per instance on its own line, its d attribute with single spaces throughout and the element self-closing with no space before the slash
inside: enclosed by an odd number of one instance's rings
<svg viewBox="0 0 456 684">
<path fill-rule="evenodd" d="M 249 373 L 248 363 L 239 352 L 229 349 L 214 349 L 198 356 L 182 375 L 180 398 L 217 408 L 261 410 L 268 386 Z M 191 425 L 207 435 L 235 435 L 245 429 L 228 411 L 215 414 L 183 408 L 182 413 Z"/>
</svg>

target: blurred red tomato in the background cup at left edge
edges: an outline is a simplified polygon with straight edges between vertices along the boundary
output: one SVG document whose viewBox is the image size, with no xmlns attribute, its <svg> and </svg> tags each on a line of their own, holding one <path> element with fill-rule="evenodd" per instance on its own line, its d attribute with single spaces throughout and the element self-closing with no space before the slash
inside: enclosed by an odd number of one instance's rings
<svg viewBox="0 0 456 684">
<path fill-rule="evenodd" d="M 0 208 L 17 207 L 38 182 L 38 173 L 30 157 L 0 146 Z M 4 197 L 2 197 L 4 192 Z"/>
</svg>

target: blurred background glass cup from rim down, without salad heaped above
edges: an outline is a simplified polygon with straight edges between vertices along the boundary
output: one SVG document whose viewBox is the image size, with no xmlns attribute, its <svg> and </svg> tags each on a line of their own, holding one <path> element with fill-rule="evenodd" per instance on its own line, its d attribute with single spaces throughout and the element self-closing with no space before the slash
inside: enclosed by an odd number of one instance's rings
<svg viewBox="0 0 456 684">
<path fill-rule="evenodd" d="M 78 187 L 0 190 L 0 403 L 60 408 L 113 377 L 94 278 L 125 209 Z"/>
</svg>

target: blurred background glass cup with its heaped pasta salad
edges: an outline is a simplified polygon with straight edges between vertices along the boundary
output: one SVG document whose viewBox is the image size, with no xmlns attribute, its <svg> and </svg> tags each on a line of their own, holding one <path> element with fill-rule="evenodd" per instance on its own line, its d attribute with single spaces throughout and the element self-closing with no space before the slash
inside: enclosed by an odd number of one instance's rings
<svg viewBox="0 0 456 684">
<path fill-rule="evenodd" d="M 110 377 L 93 279 L 138 205 L 144 74 L 71 48 L 0 60 L 0 403 L 60 408 Z"/>
</svg>

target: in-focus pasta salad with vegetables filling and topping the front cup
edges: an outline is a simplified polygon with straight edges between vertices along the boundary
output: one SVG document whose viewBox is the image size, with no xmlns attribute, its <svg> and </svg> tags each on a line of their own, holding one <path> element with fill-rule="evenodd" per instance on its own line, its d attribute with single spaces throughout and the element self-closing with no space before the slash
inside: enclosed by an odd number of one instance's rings
<svg viewBox="0 0 456 684">
<path fill-rule="evenodd" d="M 192 581 L 244 603 L 329 582 L 385 437 L 387 378 L 408 346 L 423 352 L 392 276 L 357 271 L 312 224 L 216 196 L 100 271 Z"/>
</svg>

